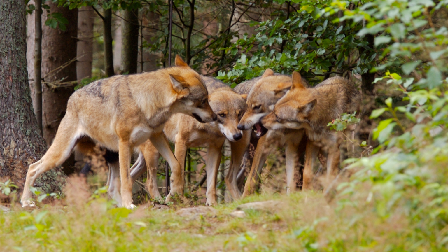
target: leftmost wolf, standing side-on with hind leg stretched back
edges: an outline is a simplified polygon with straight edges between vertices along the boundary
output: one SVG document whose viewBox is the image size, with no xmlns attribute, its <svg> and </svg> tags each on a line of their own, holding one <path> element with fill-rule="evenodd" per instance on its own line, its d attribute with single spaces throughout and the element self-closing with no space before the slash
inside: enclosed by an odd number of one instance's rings
<svg viewBox="0 0 448 252">
<path fill-rule="evenodd" d="M 164 123 L 172 114 L 184 113 L 200 122 L 217 116 L 208 104 L 208 92 L 200 75 L 180 56 L 176 66 L 132 75 L 117 75 L 90 83 L 70 96 L 67 112 L 45 155 L 31 164 L 26 174 L 22 207 L 33 206 L 30 187 L 43 172 L 62 164 L 73 148 L 95 142 L 119 153 L 120 206 L 135 208 L 129 174 L 131 153 L 150 139 L 171 167 L 179 169 L 163 135 Z M 88 139 L 88 141 L 81 141 Z"/>
</svg>

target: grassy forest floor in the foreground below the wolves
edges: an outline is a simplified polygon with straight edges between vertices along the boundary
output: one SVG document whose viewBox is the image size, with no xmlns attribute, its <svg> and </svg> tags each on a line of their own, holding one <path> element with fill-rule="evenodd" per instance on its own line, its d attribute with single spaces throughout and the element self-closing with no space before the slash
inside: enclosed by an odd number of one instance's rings
<svg viewBox="0 0 448 252">
<path fill-rule="evenodd" d="M 405 206 L 375 214 L 362 188 L 330 203 L 322 192 L 263 192 L 214 207 L 151 201 L 134 210 L 86 188 L 68 182 L 63 200 L 35 209 L 13 195 L 10 210 L 0 209 L 0 251 L 446 251 Z"/>
</svg>

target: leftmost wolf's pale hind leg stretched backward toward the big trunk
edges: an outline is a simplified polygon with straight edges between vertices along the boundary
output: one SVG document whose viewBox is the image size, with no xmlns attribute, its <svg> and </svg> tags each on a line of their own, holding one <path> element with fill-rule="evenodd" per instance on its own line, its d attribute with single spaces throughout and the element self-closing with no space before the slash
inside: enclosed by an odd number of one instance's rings
<svg viewBox="0 0 448 252">
<path fill-rule="evenodd" d="M 26 173 L 25 186 L 21 198 L 22 207 L 34 206 L 31 201 L 30 187 L 34 185 L 36 178 L 44 172 L 61 165 L 72 153 L 80 134 L 77 132 L 78 122 L 71 120 L 73 117 L 66 115 L 60 122 L 52 145 L 43 157 L 30 165 Z"/>
</svg>

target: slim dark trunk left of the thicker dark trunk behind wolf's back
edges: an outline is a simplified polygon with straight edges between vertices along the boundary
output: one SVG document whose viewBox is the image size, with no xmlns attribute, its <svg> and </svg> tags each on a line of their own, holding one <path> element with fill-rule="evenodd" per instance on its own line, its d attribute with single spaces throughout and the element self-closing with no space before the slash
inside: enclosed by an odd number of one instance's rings
<svg viewBox="0 0 448 252">
<path fill-rule="evenodd" d="M 104 25 L 104 68 L 106 71 L 106 75 L 112 76 L 115 75 L 115 72 L 113 70 L 113 52 L 112 52 L 112 8 L 104 10 L 103 25 Z"/>
</svg>

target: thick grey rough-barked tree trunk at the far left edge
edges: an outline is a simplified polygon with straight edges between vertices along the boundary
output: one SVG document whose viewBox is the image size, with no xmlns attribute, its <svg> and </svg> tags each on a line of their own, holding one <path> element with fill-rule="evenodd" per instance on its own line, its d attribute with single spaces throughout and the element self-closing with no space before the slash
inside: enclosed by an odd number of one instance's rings
<svg viewBox="0 0 448 252">
<path fill-rule="evenodd" d="M 25 0 L 0 0 L 0 181 L 11 179 L 23 188 L 28 165 L 45 152 L 31 104 L 26 71 Z M 59 192 L 60 169 L 42 176 L 36 185 Z"/>
</svg>

